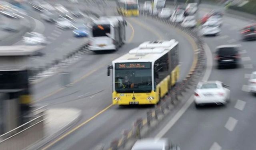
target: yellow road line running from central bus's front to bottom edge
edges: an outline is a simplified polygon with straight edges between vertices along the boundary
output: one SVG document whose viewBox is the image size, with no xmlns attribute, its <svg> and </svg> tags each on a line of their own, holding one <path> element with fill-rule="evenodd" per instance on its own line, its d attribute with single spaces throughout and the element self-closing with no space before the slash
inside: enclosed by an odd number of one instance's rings
<svg viewBox="0 0 256 150">
<path fill-rule="evenodd" d="M 108 107 L 104 108 L 103 110 L 101 110 L 100 112 L 98 112 L 96 115 L 94 115 L 93 117 L 91 117 L 90 119 L 86 120 L 85 122 L 83 122 L 82 124 L 79 124 L 78 126 L 76 126 L 75 128 L 73 128 L 72 130 L 70 130 L 69 132 L 65 133 L 64 135 L 60 136 L 60 138 L 54 140 L 54 142 L 50 143 L 49 145 L 45 146 L 44 148 L 42 148 L 41 150 L 46 150 L 47 148 L 50 148 L 51 146 L 53 146 L 55 143 L 57 143 L 58 141 L 62 140 L 63 138 L 65 138 L 66 136 L 68 136 L 68 134 L 71 134 L 72 132 L 76 131 L 77 129 L 81 128 L 82 126 L 84 126 L 85 124 L 87 124 L 88 122 L 90 122 L 92 119 L 94 119 L 95 117 L 99 116 L 100 114 L 102 114 L 103 112 L 105 112 L 106 110 L 108 110 L 108 108 L 110 108 L 111 106 L 113 106 L 113 104 L 109 105 Z"/>
</svg>

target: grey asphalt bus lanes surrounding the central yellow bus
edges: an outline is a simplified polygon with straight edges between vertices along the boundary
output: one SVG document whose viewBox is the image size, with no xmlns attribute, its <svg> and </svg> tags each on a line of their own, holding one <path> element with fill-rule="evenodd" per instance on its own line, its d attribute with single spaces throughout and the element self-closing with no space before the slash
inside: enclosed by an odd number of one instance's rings
<svg viewBox="0 0 256 150">
<path fill-rule="evenodd" d="M 175 38 L 180 42 L 181 78 L 190 70 L 193 49 L 190 42 L 179 32 L 143 17 L 127 18 L 127 21 L 130 24 L 127 27 L 127 43 L 122 48 L 116 52 L 103 54 L 88 52 L 79 62 L 67 68 L 66 71 L 71 72 L 74 82 L 72 86 L 60 88 L 59 75 L 33 85 L 35 104 L 82 110 L 82 119 L 78 124 L 83 125 L 65 138 L 55 141 L 56 143 L 48 149 L 91 150 L 98 144 L 108 146 L 112 139 L 120 137 L 122 130 L 131 128 L 137 118 L 146 117 L 146 110 L 152 107 L 111 106 L 112 79 L 106 76 L 106 67 L 111 60 L 127 53 L 140 43 Z M 101 111 L 101 114 L 95 116 Z"/>
</svg>

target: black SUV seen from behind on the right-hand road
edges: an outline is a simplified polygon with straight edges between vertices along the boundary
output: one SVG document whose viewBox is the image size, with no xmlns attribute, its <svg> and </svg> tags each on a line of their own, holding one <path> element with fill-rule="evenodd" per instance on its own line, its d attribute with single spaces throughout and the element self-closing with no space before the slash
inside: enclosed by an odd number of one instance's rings
<svg viewBox="0 0 256 150">
<path fill-rule="evenodd" d="M 236 45 L 222 45 L 216 48 L 216 61 L 218 68 L 222 66 L 234 65 L 238 66 L 240 54 L 238 53 L 238 46 Z"/>
</svg>

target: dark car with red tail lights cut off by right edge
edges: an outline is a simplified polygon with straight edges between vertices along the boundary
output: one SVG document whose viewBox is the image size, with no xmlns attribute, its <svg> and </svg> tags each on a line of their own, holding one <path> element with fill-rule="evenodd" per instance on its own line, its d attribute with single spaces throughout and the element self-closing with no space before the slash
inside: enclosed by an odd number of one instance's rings
<svg viewBox="0 0 256 150">
<path fill-rule="evenodd" d="M 256 24 L 244 27 L 240 34 L 242 40 L 256 40 Z"/>
</svg>

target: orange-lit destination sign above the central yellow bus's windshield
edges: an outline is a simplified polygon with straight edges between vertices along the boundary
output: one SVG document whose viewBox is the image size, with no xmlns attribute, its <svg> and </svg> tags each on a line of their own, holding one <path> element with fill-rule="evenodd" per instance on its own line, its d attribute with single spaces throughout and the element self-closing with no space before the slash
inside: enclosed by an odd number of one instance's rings
<svg viewBox="0 0 256 150">
<path fill-rule="evenodd" d="M 151 68 L 150 62 L 117 63 L 116 69 Z"/>
</svg>

